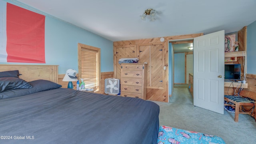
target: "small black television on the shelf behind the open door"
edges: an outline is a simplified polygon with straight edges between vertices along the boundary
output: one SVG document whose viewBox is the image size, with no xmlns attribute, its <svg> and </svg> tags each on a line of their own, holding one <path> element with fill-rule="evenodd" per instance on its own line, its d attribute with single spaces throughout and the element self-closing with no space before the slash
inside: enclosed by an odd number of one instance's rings
<svg viewBox="0 0 256 144">
<path fill-rule="evenodd" d="M 225 80 L 240 80 L 241 64 L 225 64 Z"/>
</svg>

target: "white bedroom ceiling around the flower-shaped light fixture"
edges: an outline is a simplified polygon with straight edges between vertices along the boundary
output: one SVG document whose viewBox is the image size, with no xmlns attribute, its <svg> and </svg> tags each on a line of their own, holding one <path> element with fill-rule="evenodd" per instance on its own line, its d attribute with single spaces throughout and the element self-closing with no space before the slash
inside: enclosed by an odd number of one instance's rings
<svg viewBox="0 0 256 144">
<path fill-rule="evenodd" d="M 256 20 L 256 0 L 18 0 L 112 41 L 236 32 Z M 157 20 L 143 21 L 148 9 Z"/>
</svg>

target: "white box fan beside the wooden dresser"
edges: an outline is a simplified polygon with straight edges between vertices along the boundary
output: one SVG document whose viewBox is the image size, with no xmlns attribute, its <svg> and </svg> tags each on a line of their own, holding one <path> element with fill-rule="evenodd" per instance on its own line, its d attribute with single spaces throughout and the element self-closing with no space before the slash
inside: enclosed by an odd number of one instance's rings
<svg viewBox="0 0 256 144">
<path fill-rule="evenodd" d="M 105 79 L 105 93 L 106 94 L 118 94 L 120 90 L 120 83 L 118 79 L 106 78 Z"/>
</svg>

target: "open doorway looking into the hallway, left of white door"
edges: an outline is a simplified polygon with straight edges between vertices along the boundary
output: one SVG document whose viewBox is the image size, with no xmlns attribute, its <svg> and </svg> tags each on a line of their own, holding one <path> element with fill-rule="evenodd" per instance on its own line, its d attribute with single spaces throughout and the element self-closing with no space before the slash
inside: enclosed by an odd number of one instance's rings
<svg viewBox="0 0 256 144">
<path fill-rule="evenodd" d="M 192 102 L 188 90 L 188 75 L 193 73 L 193 50 L 190 50 L 193 47 L 193 40 L 174 41 L 170 42 L 170 45 L 173 49 L 173 91 L 169 102 L 178 102 L 184 98 Z"/>
</svg>

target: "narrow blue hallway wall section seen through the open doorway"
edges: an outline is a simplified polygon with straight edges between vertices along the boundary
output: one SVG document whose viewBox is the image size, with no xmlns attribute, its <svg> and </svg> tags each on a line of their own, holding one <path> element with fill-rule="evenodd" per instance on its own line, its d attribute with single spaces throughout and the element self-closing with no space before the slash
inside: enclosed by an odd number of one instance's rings
<svg viewBox="0 0 256 144">
<path fill-rule="evenodd" d="M 185 53 L 174 54 L 174 84 L 185 83 Z"/>
</svg>

